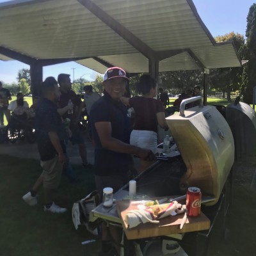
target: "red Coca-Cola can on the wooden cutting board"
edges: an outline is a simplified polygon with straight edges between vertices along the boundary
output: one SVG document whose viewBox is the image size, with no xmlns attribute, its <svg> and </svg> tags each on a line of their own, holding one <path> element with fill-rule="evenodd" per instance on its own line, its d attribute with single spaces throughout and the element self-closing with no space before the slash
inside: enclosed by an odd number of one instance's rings
<svg viewBox="0 0 256 256">
<path fill-rule="evenodd" d="M 190 187 L 187 191 L 186 207 L 188 216 L 196 217 L 201 213 L 202 193 L 200 188 Z"/>
</svg>

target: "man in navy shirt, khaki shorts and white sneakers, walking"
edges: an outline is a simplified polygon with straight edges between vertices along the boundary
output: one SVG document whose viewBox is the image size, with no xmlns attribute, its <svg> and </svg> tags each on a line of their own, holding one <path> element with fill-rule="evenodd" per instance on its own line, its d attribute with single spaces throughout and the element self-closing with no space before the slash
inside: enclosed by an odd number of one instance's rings
<svg viewBox="0 0 256 256">
<path fill-rule="evenodd" d="M 44 186 L 45 212 L 63 213 L 67 209 L 56 205 L 54 194 L 60 185 L 61 173 L 67 159 L 63 138 L 65 128 L 57 111 L 60 99 L 60 89 L 54 77 L 47 77 L 42 83 L 42 99 L 36 108 L 35 126 L 38 151 L 41 159 L 42 174 L 36 180 L 33 188 L 23 200 L 29 205 L 36 205 L 36 193 Z"/>
</svg>

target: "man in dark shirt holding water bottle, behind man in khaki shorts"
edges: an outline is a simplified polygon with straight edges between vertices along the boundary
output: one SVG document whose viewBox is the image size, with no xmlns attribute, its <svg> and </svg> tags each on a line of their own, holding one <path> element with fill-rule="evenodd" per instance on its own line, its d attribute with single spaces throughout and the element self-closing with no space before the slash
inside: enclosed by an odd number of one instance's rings
<svg viewBox="0 0 256 256">
<path fill-rule="evenodd" d="M 83 134 L 79 129 L 79 121 L 81 118 L 81 111 L 83 109 L 83 102 L 80 95 L 76 95 L 75 92 L 71 90 L 72 83 L 70 80 L 70 75 L 60 74 L 58 76 L 58 83 L 60 84 L 60 101 L 58 108 L 58 113 L 62 116 L 63 120 L 69 118 L 70 130 L 72 131 L 72 136 L 70 141 L 73 145 L 77 144 L 79 148 L 79 154 L 82 159 L 83 167 L 91 167 L 92 164 L 89 164 L 87 161 L 87 150 L 84 143 Z M 73 111 L 68 111 L 68 101 L 71 100 L 74 108 Z"/>
</svg>

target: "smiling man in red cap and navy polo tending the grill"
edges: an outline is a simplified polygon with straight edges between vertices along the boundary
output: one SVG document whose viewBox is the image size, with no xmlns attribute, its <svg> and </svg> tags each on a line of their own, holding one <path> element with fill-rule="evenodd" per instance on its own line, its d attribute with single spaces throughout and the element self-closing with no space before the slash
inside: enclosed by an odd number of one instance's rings
<svg viewBox="0 0 256 256">
<path fill-rule="evenodd" d="M 115 192 L 129 181 L 132 154 L 148 161 L 155 157 L 151 150 L 129 145 L 131 126 L 127 109 L 120 101 L 128 82 L 122 68 L 108 68 L 102 83 L 104 96 L 93 104 L 90 111 L 95 140 L 95 184 L 100 194 L 106 187 L 113 188 Z M 114 227 L 110 227 L 110 232 L 116 240 L 121 237 Z M 109 240 L 106 226 L 102 225 L 100 255 L 115 255 Z"/>
</svg>

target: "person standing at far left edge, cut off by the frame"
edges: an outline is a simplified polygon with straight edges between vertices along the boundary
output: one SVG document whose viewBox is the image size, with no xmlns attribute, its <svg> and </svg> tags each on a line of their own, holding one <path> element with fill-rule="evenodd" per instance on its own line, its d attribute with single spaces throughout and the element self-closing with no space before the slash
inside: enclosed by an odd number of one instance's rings
<svg viewBox="0 0 256 256">
<path fill-rule="evenodd" d="M 9 100 L 12 100 L 11 93 L 8 89 L 3 88 L 3 83 L 0 81 L 0 126 L 4 125 L 4 115 L 6 116 L 7 122 L 10 120 L 8 112 Z"/>
</svg>

